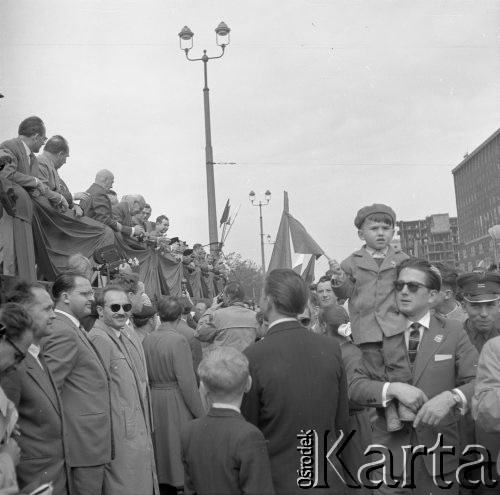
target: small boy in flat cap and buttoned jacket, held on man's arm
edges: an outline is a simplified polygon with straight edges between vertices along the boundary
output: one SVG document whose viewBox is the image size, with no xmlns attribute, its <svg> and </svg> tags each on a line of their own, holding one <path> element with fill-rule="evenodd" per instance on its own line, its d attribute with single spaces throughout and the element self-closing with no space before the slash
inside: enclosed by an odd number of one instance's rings
<svg viewBox="0 0 500 495">
<path fill-rule="evenodd" d="M 405 318 L 397 309 L 393 284 L 397 265 L 408 255 L 390 245 L 395 223 L 396 213 L 390 206 L 361 208 L 354 225 L 364 246 L 340 266 L 331 260 L 330 268 L 336 296 L 349 298 L 352 338 L 373 377 L 407 383 L 411 371 L 402 340 Z M 390 403 L 386 408 L 388 431 L 401 429 L 402 420 L 414 419 L 414 413 L 402 404 Z"/>
</svg>

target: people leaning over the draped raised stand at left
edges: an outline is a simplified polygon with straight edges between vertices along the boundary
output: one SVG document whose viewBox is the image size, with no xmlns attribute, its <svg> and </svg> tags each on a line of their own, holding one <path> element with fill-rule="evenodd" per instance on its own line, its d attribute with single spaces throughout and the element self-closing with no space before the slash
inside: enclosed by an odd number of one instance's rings
<svg viewBox="0 0 500 495">
<path fill-rule="evenodd" d="M 119 258 L 137 257 L 143 272 L 161 279 L 144 280 L 156 297 L 180 295 L 183 280 L 191 296 L 220 292 L 227 267 L 217 249 L 207 254 L 200 243 L 190 247 L 170 236 L 169 218 L 161 214 L 151 221 L 151 206 L 141 194 L 118 201 L 110 170 L 97 172 L 87 189 L 71 192 L 60 176 L 68 158 L 68 141 L 61 135 L 48 139 L 39 117 L 23 120 L 18 136 L 0 144 L 0 273 L 53 281 L 68 254 L 93 259 L 99 248 L 114 246 Z M 168 265 L 157 266 L 157 256 L 173 263 L 179 276 Z"/>
</svg>

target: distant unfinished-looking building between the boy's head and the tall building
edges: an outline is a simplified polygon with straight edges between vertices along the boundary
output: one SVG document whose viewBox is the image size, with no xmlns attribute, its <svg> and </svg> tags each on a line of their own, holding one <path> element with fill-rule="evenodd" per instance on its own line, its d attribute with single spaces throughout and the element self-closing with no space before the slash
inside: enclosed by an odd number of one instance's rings
<svg viewBox="0 0 500 495">
<path fill-rule="evenodd" d="M 409 256 L 459 266 L 458 222 L 448 213 L 430 215 L 424 220 L 397 222 L 401 249 Z"/>
</svg>

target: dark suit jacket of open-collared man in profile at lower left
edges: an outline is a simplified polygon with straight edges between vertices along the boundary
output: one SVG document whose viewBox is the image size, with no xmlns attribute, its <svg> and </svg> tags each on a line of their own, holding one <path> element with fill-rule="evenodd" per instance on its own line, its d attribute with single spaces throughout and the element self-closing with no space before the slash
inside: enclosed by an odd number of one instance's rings
<svg viewBox="0 0 500 495">
<path fill-rule="evenodd" d="M 54 495 L 68 493 L 63 416 L 52 376 L 39 357 L 27 354 L 16 370 L 2 379 L 2 387 L 19 412 L 21 462 L 17 468 L 19 487 L 29 493 L 52 481 Z"/>
</svg>

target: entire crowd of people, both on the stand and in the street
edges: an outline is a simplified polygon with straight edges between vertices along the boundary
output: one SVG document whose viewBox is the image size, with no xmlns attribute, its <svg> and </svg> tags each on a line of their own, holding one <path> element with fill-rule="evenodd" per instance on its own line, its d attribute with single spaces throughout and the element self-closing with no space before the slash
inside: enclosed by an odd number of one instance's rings
<svg viewBox="0 0 500 495">
<path fill-rule="evenodd" d="M 220 268 L 168 238 L 165 215 L 151 223 L 142 196 L 118 202 L 107 170 L 70 194 L 68 144 L 45 141 L 32 117 L 0 146 L 3 269 L 20 275 L 0 303 L 0 493 L 500 493 L 496 270 L 409 258 L 391 246 L 395 212 L 373 204 L 359 250 L 310 287 L 272 270 L 258 308 L 225 277 L 220 295 L 184 276 L 158 297 L 123 263 L 95 287 L 71 250 L 36 282 L 20 263 L 40 198 L 183 275 Z"/>
</svg>

